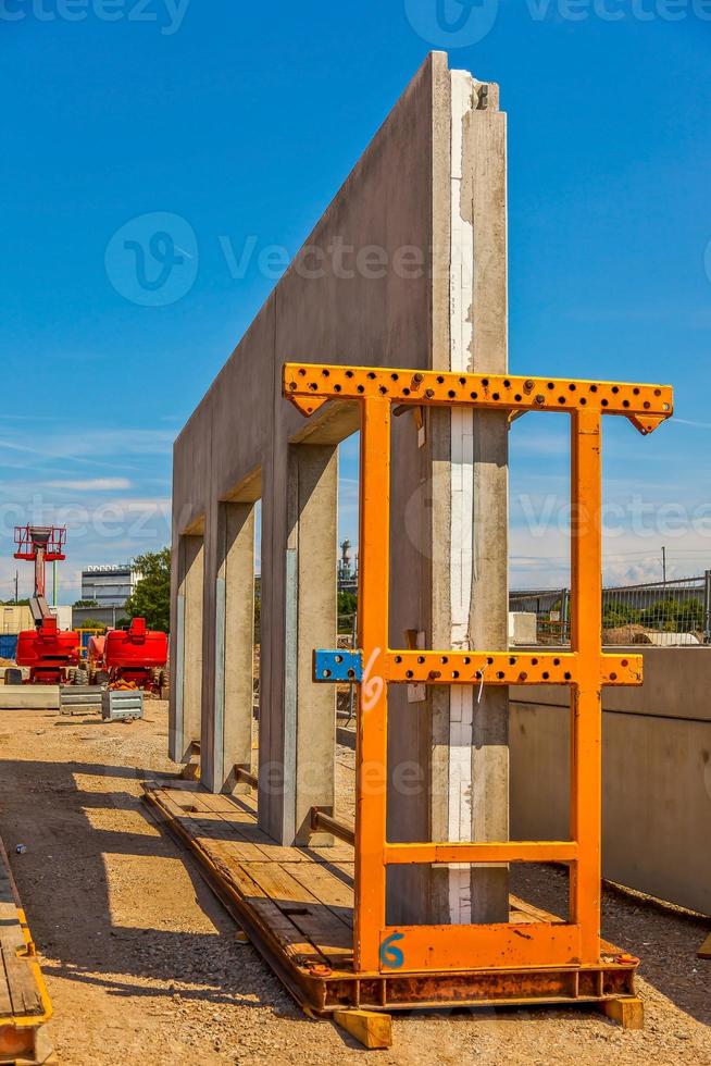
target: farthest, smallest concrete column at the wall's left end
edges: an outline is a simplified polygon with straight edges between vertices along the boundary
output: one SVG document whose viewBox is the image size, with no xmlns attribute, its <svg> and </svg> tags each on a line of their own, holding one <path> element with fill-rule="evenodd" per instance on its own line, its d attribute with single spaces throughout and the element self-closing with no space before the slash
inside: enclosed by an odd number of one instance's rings
<svg viewBox="0 0 711 1066">
<path fill-rule="evenodd" d="M 200 743 L 204 537 L 180 536 L 177 555 L 170 754 L 175 763 L 187 763 Z"/>
</svg>

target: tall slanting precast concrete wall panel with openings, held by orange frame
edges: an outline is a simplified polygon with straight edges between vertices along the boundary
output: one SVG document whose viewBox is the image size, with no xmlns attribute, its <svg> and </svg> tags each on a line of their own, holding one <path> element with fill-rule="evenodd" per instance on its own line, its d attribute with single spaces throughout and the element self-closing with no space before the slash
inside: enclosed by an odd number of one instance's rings
<svg viewBox="0 0 711 1066">
<path fill-rule="evenodd" d="M 454 84 L 459 85 L 460 104 L 453 129 Z M 298 627 L 297 647 L 301 650 L 297 652 L 296 706 L 288 705 L 294 698 L 288 673 L 294 667 L 288 631 L 290 574 L 295 563 L 301 567 L 304 561 L 289 555 L 289 455 L 297 446 L 334 447 L 357 429 L 358 421 L 352 408 L 344 405 L 327 405 L 304 421 L 282 397 L 282 365 L 304 358 L 311 362 L 444 369 L 454 365 L 457 358 L 463 367 L 506 367 L 506 123 L 498 111 L 495 87 L 490 89 L 487 97 L 470 75 L 452 74 L 442 53 L 427 59 L 176 444 L 174 549 L 182 558 L 189 537 L 204 535 L 204 624 L 200 661 L 187 654 L 189 582 L 178 569 L 173 587 L 173 662 L 177 677 L 171 699 L 172 751 L 183 757 L 188 742 L 195 739 L 195 705 L 188 694 L 195 691 L 190 675 L 199 670 L 202 781 L 211 789 L 224 786 L 224 773 L 216 772 L 220 753 L 215 748 L 220 507 L 225 500 L 248 504 L 261 498 L 260 822 L 285 843 L 291 843 L 301 828 L 300 813 L 313 795 L 309 781 L 314 779 L 314 771 L 325 774 L 322 804 L 333 803 L 333 779 L 323 761 L 328 752 L 333 761 L 335 731 L 334 716 L 315 711 L 324 697 L 316 698 L 310 691 L 312 684 L 305 679 L 303 665 L 309 641 L 313 647 L 325 636 L 329 613 L 321 587 L 325 578 L 319 578 L 313 586 L 320 621 L 311 632 L 302 623 Z M 412 416 L 395 420 L 394 647 L 403 645 L 408 630 L 422 632 L 428 646 L 448 647 L 451 643 L 451 558 L 461 534 L 456 533 L 452 543 L 447 518 L 452 492 L 449 418 L 448 412 L 445 418 L 433 414 L 426 420 L 423 437 Z M 471 537 L 469 531 L 465 534 L 472 559 L 467 603 L 473 605 L 467 608 L 465 629 L 471 625 L 471 637 L 484 640 L 489 647 L 506 646 L 503 423 L 494 425 L 491 417 L 472 420 L 471 437 L 466 475 L 479 503 L 476 513 L 471 511 Z M 328 507 L 333 509 L 333 504 Z M 326 515 L 328 507 L 323 511 L 326 556 L 335 521 L 334 515 Z M 303 582 L 299 587 L 303 593 Z M 230 632 L 230 640 L 246 641 L 246 634 L 240 633 Z M 333 641 L 335 632 L 327 643 Z M 389 710 L 390 778 L 406 763 L 419 766 L 423 774 L 423 788 L 415 795 L 391 790 L 390 839 L 427 840 L 432 833 L 439 835 L 439 828 L 447 839 L 451 832 L 448 779 L 437 768 L 449 774 L 449 706 L 435 715 L 438 722 L 434 731 L 429 698 L 413 712 L 408 693 L 395 690 Z M 438 733 L 442 723 L 445 733 Z M 484 702 L 476 728 L 481 743 L 472 756 L 470 742 L 469 757 L 475 764 L 470 767 L 470 777 L 476 774 L 482 797 L 477 811 L 496 810 L 496 816 L 487 815 L 483 823 L 470 809 L 471 822 L 462 830 L 463 839 L 472 833 L 479 839 L 506 834 L 506 712 L 501 694 Z M 313 758 L 307 759 L 304 749 L 303 757 L 295 761 L 295 729 L 297 747 L 299 735 L 308 735 Z M 280 781 L 272 778 L 274 767 L 285 767 Z M 328 791 L 329 796 L 325 794 Z M 422 918 L 431 897 L 426 872 L 395 870 L 392 887 L 399 901 L 399 909 L 394 912 L 397 920 Z M 498 893 L 503 898 L 504 887 Z"/>
</svg>

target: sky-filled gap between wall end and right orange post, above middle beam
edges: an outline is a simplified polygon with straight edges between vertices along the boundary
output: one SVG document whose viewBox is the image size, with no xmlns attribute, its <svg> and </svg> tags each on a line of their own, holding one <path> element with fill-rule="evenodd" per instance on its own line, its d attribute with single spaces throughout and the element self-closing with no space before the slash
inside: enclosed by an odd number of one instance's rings
<svg viewBox="0 0 711 1066">
<path fill-rule="evenodd" d="M 564 645 L 570 643 L 570 418 L 516 419 L 509 442 L 509 641 Z"/>
</svg>

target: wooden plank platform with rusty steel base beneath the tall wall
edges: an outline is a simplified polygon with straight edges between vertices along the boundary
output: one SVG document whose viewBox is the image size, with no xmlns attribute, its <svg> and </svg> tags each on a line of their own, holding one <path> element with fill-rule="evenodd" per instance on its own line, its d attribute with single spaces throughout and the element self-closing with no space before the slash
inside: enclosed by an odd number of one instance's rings
<svg viewBox="0 0 711 1066">
<path fill-rule="evenodd" d="M 353 969 L 353 848 L 283 847 L 257 823 L 249 795 L 211 795 L 196 784 L 148 783 L 153 813 L 197 858 L 212 890 L 309 1014 L 598 1004 L 628 1027 L 641 1025 L 638 959 L 603 944 L 598 966 L 365 974 Z M 515 897 L 511 919 L 560 919 Z"/>
</svg>

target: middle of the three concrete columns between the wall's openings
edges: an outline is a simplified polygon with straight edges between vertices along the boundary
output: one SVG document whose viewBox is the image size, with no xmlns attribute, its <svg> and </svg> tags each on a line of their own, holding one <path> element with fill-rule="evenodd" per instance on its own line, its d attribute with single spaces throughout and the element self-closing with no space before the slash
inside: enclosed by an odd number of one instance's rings
<svg viewBox="0 0 711 1066">
<path fill-rule="evenodd" d="M 244 791 L 235 767 L 250 768 L 254 634 L 254 505 L 217 509 L 213 686 L 205 701 L 201 782 L 211 792 Z M 209 705 L 209 706 L 208 706 Z M 203 723 L 203 727 L 207 723 Z"/>
</svg>

